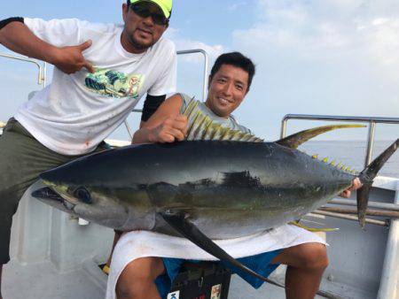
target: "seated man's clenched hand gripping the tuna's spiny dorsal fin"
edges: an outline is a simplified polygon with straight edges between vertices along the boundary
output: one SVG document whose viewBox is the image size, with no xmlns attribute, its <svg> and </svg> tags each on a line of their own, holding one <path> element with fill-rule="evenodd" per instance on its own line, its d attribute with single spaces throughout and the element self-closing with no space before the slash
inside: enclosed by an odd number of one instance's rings
<svg viewBox="0 0 399 299">
<path fill-rule="evenodd" d="M 187 117 L 184 115 L 168 116 L 159 126 L 154 127 L 149 135 L 150 142 L 184 141 L 187 134 Z"/>
</svg>

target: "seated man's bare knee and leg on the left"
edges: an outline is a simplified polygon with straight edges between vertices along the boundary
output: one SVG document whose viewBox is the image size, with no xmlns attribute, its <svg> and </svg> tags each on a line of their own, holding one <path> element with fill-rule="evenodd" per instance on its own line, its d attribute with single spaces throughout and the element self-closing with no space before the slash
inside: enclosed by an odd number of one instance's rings
<svg viewBox="0 0 399 299">
<path fill-rule="evenodd" d="M 143 257 L 130 262 L 116 283 L 118 299 L 160 299 L 154 280 L 164 271 L 160 257 Z"/>
</svg>

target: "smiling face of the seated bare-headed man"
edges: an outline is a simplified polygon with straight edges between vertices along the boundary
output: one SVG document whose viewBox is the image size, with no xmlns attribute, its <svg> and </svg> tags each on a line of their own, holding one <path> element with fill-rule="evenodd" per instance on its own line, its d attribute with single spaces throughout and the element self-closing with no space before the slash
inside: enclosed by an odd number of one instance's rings
<svg viewBox="0 0 399 299">
<path fill-rule="evenodd" d="M 209 82 L 207 107 L 227 118 L 244 100 L 248 90 L 248 73 L 240 67 L 222 65 Z"/>
</svg>

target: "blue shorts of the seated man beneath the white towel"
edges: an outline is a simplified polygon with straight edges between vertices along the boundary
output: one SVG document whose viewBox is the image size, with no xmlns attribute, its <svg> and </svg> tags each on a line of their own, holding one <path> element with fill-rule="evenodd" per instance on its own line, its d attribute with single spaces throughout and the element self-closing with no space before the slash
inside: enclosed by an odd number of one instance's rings
<svg viewBox="0 0 399 299">
<path fill-rule="evenodd" d="M 281 251 L 283 251 L 283 249 L 269 251 L 251 257 L 241 257 L 238 258 L 237 260 L 241 264 L 246 265 L 246 267 L 253 270 L 254 272 L 257 272 L 258 274 L 264 277 L 268 277 L 270 273 L 275 271 L 276 268 L 278 267 L 278 264 L 270 264 L 270 262 L 274 257 L 277 257 Z M 182 264 L 184 264 L 185 262 L 189 263 L 201 262 L 199 260 L 185 260 L 181 258 L 167 258 L 167 257 L 162 258 L 162 260 L 163 260 L 163 265 L 165 265 L 166 271 L 164 274 L 160 275 L 155 280 L 155 284 L 162 298 L 167 297 L 168 292 L 172 287 L 172 281 L 175 280 Z M 243 272 L 236 267 L 227 265 L 223 262 L 219 263 L 222 263 L 222 265 L 224 265 L 226 268 L 231 269 L 232 272 L 238 274 L 243 280 L 246 280 L 246 282 L 248 282 L 254 288 L 260 288 L 264 282 L 263 280 L 257 279 L 254 276 L 246 272 Z"/>
</svg>

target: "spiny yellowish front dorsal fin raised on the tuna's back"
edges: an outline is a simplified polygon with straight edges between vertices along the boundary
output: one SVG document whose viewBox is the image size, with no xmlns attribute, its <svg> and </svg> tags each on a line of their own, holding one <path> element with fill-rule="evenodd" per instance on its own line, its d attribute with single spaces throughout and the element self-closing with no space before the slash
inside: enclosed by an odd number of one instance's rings
<svg viewBox="0 0 399 299">
<path fill-rule="evenodd" d="M 216 123 L 209 116 L 198 109 L 198 102 L 192 98 L 184 113 L 188 119 L 187 140 L 202 141 L 234 141 L 234 142 L 263 142 L 254 134 L 224 127 Z"/>
</svg>

